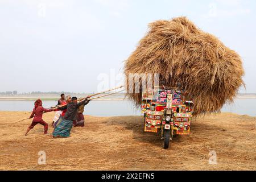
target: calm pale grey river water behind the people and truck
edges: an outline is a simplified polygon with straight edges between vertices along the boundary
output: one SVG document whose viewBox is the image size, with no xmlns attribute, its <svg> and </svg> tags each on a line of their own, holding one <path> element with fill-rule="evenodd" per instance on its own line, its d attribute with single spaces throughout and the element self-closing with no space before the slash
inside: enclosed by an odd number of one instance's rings
<svg viewBox="0 0 256 182">
<path fill-rule="evenodd" d="M 43 101 L 44 107 L 50 107 L 57 104 L 57 101 Z M 247 114 L 256 116 L 256 98 L 237 99 L 232 105 L 225 105 L 222 112 L 237 114 Z M 0 111 L 31 111 L 34 107 L 34 101 L 0 101 Z M 91 101 L 85 106 L 86 115 L 100 117 L 120 116 L 120 115 L 141 115 L 139 109 L 134 109 L 131 101 Z"/>
</svg>

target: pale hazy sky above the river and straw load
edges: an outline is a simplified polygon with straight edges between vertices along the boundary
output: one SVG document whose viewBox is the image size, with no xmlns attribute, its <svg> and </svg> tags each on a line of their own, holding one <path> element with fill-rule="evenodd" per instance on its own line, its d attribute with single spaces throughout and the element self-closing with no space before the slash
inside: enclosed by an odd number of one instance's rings
<svg viewBox="0 0 256 182">
<path fill-rule="evenodd" d="M 104 74 L 118 82 L 148 23 L 182 15 L 240 53 L 241 92 L 256 93 L 255 7 L 254 0 L 0 0 L 0 92 L 96 92 Z"/>
</svg>

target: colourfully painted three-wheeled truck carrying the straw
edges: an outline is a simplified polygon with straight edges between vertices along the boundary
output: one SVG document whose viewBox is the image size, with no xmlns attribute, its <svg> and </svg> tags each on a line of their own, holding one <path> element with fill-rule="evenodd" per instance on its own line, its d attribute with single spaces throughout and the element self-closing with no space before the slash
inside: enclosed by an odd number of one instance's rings
<svg viewBox="0 0 256 182">
<path fill-rule="evenodd" d="M 174 135 L 189 135 L 193 101 L 183 89 L 161 86 L 142 94 L 144 131 L 160 133 L 163 148 L 169 148 Z"/>
</svg>

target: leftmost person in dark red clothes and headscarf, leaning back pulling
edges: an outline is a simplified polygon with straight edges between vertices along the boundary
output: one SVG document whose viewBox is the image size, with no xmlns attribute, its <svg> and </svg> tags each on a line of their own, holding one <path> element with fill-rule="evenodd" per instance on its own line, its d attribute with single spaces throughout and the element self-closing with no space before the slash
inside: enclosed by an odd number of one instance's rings
<svg viewBox="0 0 256 182">
<path fill-rule="evenodd" d="M 40 99 L 35 101 L 35 107 L 34 107 L 34 109 L 32 111 L 31 116 L 30 116 L 30 118 L 34 117 L 34 119 L 33 119 L 32 123 L 31 123 L 31 125 L 27 129 L 27 133 L 28 133 L 28 131 L 33 129 L 34 126 L 36 126 L 39 123 L 40 125 L 44 126 L 44 134 L 47 134 L 48 124 L 43 121 L 42 117 L 43 117 L 43 113 L 51 112 L 51 111 L 53 111 L 53 109 L 44 109 L 42 104 L 43 103 L 42 103 L 42 101 Z M 27 136 L 27 133 L 25 134 L 26 136 Z"/>
</svg>

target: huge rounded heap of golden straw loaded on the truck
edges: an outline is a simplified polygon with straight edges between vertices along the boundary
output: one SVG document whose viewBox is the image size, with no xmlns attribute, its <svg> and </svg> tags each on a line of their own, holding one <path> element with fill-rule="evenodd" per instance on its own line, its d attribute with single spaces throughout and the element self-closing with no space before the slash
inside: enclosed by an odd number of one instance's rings
<svg viewBox="0 0 256 182">
<path fill-rule="evenodd" d="M 194 115 L 220 111 L 244 85 L 241 57 L 185 17 L 158 20 L 125 62 L 125 74 L 159 73 L 166 86 L 181 82 Z M 128 91 L 128 87 L 127 87 Z M 142 93 L 127 94 L 140 105 Z"/>
</svg>

